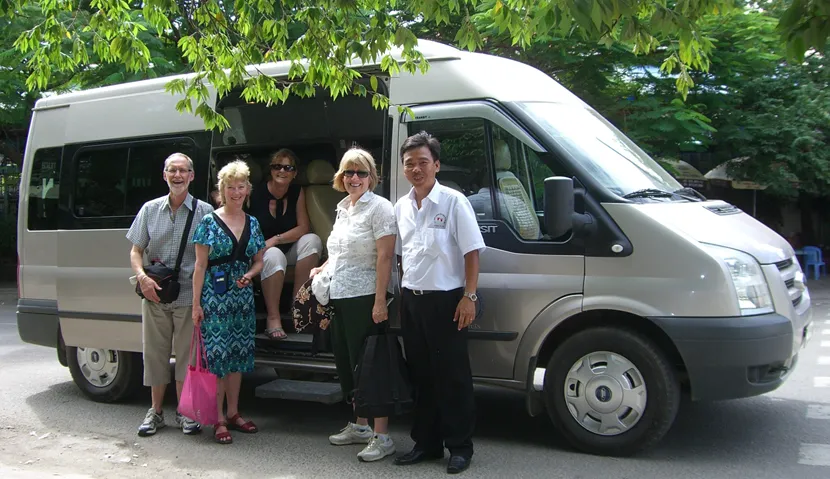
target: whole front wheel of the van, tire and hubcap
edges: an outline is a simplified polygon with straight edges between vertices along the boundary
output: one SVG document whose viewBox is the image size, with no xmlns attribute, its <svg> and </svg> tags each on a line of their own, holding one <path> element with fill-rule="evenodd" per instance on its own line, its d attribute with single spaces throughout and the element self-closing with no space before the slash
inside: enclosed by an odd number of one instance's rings
<svg viewBox="0 0 830 479">
<path fill-rule="evenodd" d="M 662 352 L 625 329 L 593 328 L 566 339 L 545 372 L 545 406 L 577 449 L 627 456 L 671 428 L 680 384 Z"/>
</svg>

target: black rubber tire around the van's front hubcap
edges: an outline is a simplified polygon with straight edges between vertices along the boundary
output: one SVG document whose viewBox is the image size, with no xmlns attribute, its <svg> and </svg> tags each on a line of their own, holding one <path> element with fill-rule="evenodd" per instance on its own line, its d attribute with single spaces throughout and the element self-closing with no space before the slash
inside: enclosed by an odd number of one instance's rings
<svg viewBox="0 0 830 479">
<path fill-rule="evenodd" d="M 571 368 L 586 355 L 601 351 L 627 360 L 646 388 L 639 420 L 616 435 L 602 435 L 583 427 L 571 414 L 565 397 Z M 599 389 L 595 391 L 597 399 L 602 400 Z M 576 449 L 603 456 L 629 456 L 654 446 L 668 432 L 677 416 L 681 392 L 674 369 L 654 343 L 628 329 L 598 327 L 578 332 L 556 348 L 548 361 L 543 395 L 554 426 Z M 605 401 L 610 397 L 606 396 Z"/>
</svg>

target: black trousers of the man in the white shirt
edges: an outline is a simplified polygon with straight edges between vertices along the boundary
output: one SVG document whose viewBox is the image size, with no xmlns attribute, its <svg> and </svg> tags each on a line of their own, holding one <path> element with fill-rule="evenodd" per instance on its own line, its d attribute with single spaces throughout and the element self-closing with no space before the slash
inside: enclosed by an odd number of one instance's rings
<svg viewBox="0 0 830 479">
<path fill-rule="evenodd" d="M 415 385 L 415 448 L 472 457 L 475 400 L 467 328 L 453 322 L 464 289 L 416 295 L 403 289 L 401 329 Z"/>
</svg>

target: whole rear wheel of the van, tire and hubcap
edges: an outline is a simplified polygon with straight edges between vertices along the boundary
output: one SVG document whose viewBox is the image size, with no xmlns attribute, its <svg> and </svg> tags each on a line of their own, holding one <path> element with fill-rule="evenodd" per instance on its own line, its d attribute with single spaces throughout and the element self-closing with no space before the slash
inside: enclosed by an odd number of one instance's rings
<svg viewBox="0 0 830 479">
<path fill-rule="evenodd" d="M 116 402 L 132 396 L 142 384 L 141 355 L 96 348 L 66 348 L 72 380 L 96 402 Z"/>
</svg>

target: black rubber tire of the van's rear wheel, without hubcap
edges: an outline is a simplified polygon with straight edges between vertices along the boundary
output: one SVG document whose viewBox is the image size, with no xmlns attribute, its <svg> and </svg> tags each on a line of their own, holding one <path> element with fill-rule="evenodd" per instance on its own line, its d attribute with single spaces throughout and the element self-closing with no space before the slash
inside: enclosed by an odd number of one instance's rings
<svg viewBox="0 0 830 479">
<path fill-rule="evenodd" d="M 84 354 L 84 351 L 82 350 L 81 353 Z M 143 382 L 144 369 L 141 355 L 128 351 L 103 350 L 103 352 L 110 357 L 114 353 L 114 357 L 117 358 L 117 372 L 114 378 L 108 379 L 104 385 L 99 385 L 94 384 L 85 376 L 81 362 L 79 362 L 78 348 L 68 346 L 66 360 L 72 380 L 86 397 L 95 402 L 112 403 L 132 397 Z"/>
</svg>

